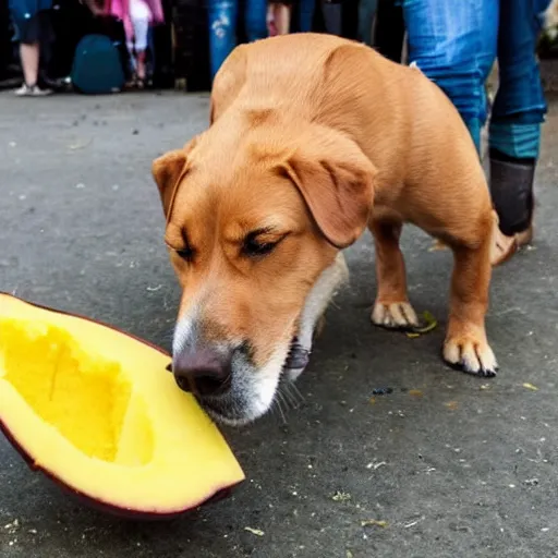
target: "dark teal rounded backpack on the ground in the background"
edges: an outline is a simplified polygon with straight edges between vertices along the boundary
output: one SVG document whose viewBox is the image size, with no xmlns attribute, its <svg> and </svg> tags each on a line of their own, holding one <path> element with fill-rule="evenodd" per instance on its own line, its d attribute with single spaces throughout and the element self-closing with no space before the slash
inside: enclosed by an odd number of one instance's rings
<svg viewBox="0 0 558 558">
<path fill-rule="evenodd" d="M 72 83 L 81 93 L 104 94 L 122 89 L 125 83 L 118 43 L 106 35 L 86 35 L 75 48 Z"/>
</svg>

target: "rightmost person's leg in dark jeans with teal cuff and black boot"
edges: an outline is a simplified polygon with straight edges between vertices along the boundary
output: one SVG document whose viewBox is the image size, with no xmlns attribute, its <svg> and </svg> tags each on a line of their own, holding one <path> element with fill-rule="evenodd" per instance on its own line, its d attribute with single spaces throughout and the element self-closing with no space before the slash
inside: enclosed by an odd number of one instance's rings
<svg viewBox="0 0 558 558">
<path fill-rule="evenodd" d="M 549 1 L 501 2 L 499 87 L 489 125 L 490 191 L 505 234 L 532 236 L 533 180 L 546 102 L 535 57 Z"/>
</svg>

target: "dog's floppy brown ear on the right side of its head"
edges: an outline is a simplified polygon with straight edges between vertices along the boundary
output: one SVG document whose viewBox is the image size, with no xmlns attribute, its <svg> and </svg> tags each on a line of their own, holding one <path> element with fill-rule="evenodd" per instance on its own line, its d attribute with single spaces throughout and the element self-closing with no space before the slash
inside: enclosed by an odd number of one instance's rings
<svg viewBox="0 0 558 558">
<path fill-rule="evenodd" d="M 377 171 L 355 142 L 330 129 L 313 126 L 281 169 L 333 246 L 344 248 L 363 233 Z"/>
</svg>

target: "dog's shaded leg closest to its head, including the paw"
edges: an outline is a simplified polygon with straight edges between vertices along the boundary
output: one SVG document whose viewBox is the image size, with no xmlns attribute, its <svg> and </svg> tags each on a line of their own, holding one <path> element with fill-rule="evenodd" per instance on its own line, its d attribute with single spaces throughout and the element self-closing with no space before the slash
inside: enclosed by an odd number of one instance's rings
<svg viewBox="0 0 558 558">
<path fill-rule="evenodd" d="M 369 225 L 376 246 L 378 292 L 372 322 L 390 329 L 410 329 L 418 325 L 407 295 L 407 272 L 399 247 L 402 223 L 398 220 L 373 218 Z"/>
</svg>

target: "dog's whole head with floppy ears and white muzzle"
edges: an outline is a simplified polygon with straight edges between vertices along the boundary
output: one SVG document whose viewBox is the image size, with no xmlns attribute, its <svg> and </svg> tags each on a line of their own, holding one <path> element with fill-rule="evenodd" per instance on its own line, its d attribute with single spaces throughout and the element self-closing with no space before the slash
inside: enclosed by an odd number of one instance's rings
<svg viewBox="0 0 558 558">
<path fill-rule="evenodd" d="M 215 418 L 244 424 L 270 408 L 286 367 L 304 367 L 293 340 L 310 350 L 343 277 L 338 252 L 366 227 L 375 169 L 317 125 L 222 136 L 211 126 L 153 173 L 183 289 L 177 383 Z"/>
</svg>

